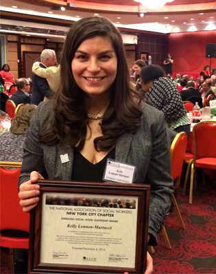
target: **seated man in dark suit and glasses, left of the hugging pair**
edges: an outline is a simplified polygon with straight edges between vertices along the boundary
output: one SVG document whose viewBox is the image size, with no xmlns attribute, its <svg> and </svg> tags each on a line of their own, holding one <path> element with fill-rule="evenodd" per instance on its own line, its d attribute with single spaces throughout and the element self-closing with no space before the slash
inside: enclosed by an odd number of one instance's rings
<svg viewBox="0 0 216 274">
<path fill-rule="evenodd" d="M 26 78 L 19 78 L 16 81 L 16 87 L 18 90 L 10 97 L 10 100 L 14 101 L 15 105 L 31 103 L 31 97 L 29 97 L 29 81 Z"/>
</svg>

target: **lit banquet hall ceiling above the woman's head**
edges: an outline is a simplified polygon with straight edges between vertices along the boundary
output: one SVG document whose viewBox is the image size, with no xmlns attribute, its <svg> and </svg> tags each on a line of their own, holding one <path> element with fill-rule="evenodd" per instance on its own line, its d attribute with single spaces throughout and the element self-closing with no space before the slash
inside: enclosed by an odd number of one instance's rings
<svg viewBox="0 0 216 274">
<path fill-rule="evenodd" d="M 72 7 L 69 7 L 70 3 L 73 4 Z M 66 10 L 51 10 L 51 8 L 60 7 L 60 4 Z M 133 0 L 1 0 L 0 18 L 4 20 L 0 21 L 0 28 L 1 23 L 12 25 L 15 19 L 23 25 L 21 21 L 27 20 L 23 18 L 29 18 L 29 14 L 34 16 L 32 18 L 35 21 L 40 20 L 43 23 L 47 21 L 48 25 L 56 24 L 62 25 L 62 27 L 68 27 L 73 21 L 82 17 L 99 14 L 106 16 L 115 25 L 128 29 L 128 31 L 140 29 L 171 33 L 216 29 L 214 5 L 216 3 L 213 0 L 174 0 L 162 8 L 150 10 Z M 17 8 L 12 8 L 12 6 Z M 143 11 L 145 16 L 138 16 L 139 11 Z M 37 24 L 40 21 L 34 23 L 34 26 L 38 27 Z M 16 22 L 16 25 L 19 24 Z M 51 27 L 51 29 L 65 30 L 57 26 Z"/>
</svg>

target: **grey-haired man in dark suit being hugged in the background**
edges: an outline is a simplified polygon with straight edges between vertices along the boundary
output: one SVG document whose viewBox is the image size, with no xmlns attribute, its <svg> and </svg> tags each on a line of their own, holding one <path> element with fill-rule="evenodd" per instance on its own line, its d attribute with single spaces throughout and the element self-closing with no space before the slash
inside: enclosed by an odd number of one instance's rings
<svg viewBox="0 0 216 274">
<path fill-rule="evenodd" d="M 43 69 L 49 68 L 49 66 L 56 66 L 56 53 L 52 49 L 44 49 L 40 55 L 40 67 Z M 45 97 L 49 98 L 52 95 L 52 90 L 49 87 L 47 79 L 40 77 L 33 73 L 32 75 L 32 101 L 34 105 L 39 105 Z"/>
</svg>

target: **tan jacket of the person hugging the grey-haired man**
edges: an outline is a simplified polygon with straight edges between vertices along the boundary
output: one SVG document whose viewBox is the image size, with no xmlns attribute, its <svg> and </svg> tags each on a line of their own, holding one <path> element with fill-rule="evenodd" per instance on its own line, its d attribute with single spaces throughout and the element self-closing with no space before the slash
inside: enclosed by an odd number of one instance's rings
<svg viewBox="0 0 216 274">
<path fill-rule="evenodd" d="M 53 92 L 58 91 L 60 87 L 60 66 L 49 66 L 47 69 L 43 69 L 40 67 L 40 62 L 35 62 L 32 66 L 32 72 L 40 77 L 46 78 L 49 88 L 51 88 Z"/>
</svg>

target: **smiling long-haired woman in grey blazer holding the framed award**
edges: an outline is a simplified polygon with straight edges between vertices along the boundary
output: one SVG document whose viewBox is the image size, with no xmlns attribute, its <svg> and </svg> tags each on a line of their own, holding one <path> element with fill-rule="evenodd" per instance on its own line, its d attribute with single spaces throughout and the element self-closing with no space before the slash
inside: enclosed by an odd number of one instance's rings
<svg viewBox="0 0 216 274">
<path fill-rule="evenodd" d="M 101 182 L 113 158 L 136 165 L 134 183 L 151 184 L 149 245 L 155 245 L 173 192 L 167 132 L 163 114 L 149 105 L 141 110 L 132 94 L 121 34 L 106 18 L 82 18 L 67 34 L 60 70 L 60 91 L 40 103 L 24 145 L 23 211 L 37 205 L 40 186 L 31 182 L 43 174 Z M 65 153 L 67 168 L 60 161 Z M 97 164 L 102 168 L 95 171 Z M 145 274 L 153 271 L 149 253 L 147 261 Z"/>
</svg>

